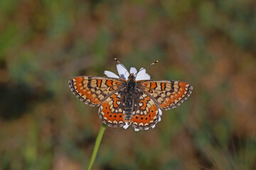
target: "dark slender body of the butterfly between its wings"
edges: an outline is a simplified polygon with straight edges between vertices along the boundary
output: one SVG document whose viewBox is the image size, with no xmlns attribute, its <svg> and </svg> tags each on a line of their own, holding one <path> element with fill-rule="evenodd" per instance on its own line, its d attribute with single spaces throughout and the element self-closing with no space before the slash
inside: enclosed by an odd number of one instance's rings
<svg viewBox="0 0 256 170">
<path fill-rule="evenodd" d="M 130 74 L 127 82 L 127 89 L 124 101 L 124 120 L 132 119 L 132 112 L 134 108 L 134 92 L 135 92 L 136 81 L 134 74 Z"/>
</svg>

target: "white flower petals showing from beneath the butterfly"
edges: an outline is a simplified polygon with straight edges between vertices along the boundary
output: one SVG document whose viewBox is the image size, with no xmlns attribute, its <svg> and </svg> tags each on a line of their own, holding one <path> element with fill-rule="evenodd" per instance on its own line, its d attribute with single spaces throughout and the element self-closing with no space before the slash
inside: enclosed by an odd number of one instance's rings
<svg viewBox="0 0 256 170">
<path fill-rule="evenodd" d="M 124 65 L 122 64 L 117 64 L 117 72 L 119 74 L 119 77 L 117 76 L 117 74 L 114 74 L 113 72 L 110 72 L 110 71 L 105 71 L 104 74 L 107 76 L 107 77 L 112 77 L 112 78 L 121 78 L 121 79 L 125 79 L 125 80 L 128 80 L 128 77 L 129 77 L 129 74 L 134 74 L 135 75 L 135 80 L 138 81 L 138 80 L 146 80 L 146 79 L 150 79 L 150 76 L 149 74 L 146 73 L 146 69 L 144 68 L 141 68 L 139 69 L 139 73 L 137 73 L 137 69 L 134 68 L 134 67 L 131 67 L 129 72 L 128 70 L 124 67 Z M 162 112 L 161 110 L 159 109 L 159 115 L 161 116 L 162 115 Z M 161 121 L 161 117 L 159 116 L 159 122 Z M 127 129 L 129 127 L 129 124 L 126 123 L 123 128 L 124 129 Z M 152 125 L 151 128 L 155 128 L 155 125 Z M 145 130 L 148 130 L 149 128 L 146 128 Z M 139 129 L 137 128 L 134 128 L 135 131 L 139 131 Z"/>
</svg>

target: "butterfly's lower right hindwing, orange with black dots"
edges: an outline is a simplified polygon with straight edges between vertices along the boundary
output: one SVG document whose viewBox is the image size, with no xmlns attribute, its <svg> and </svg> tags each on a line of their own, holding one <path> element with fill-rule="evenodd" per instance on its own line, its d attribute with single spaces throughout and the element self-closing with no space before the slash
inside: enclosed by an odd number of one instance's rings
<svg viewBox="0 0 256 170">
<path fill-rule="evenodd" d="M 159 120 L 159 110 L 154 101 L 146 94 L 139 96 L 135 102 L 131 124 L 137 129 L 146 129 Z"/>
</svg>

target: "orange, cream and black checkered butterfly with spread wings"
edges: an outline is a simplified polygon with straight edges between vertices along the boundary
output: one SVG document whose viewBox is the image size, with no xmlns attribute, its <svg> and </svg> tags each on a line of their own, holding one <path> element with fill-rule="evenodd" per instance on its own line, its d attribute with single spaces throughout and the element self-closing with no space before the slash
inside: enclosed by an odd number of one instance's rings
<svg viewBox="0 0 256 170">
<path fill-rule="evenodd" d="M 100 106 L 98 114 L 103 123 L 114 128 L 132 125 L 135 130 L 154 128 L 161 120 L 161 109 L 176 108 L 193 89 L 183 81 L 137 80 L 137 74 L 129 74 L 128 79 L 81 76 L 68 83 L 82 102 Z"/>
</svg>

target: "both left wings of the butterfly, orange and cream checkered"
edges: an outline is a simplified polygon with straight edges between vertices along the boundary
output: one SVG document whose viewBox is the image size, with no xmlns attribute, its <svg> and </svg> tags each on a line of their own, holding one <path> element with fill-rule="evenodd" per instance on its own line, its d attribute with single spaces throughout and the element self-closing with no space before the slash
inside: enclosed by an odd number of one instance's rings
<svg viewBox="0 0 256 170">
<path fill-rule="evenodd" d="M 111 127 L 122 127 L 124 123 L 121 95 L 124 79 L 105 77 L 75 77 L 70 79 L 69 86 L 80 101 L 90 106 L 100 106 L 99 116 L 103 123 Z"/>
</svg>

